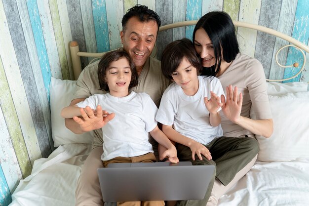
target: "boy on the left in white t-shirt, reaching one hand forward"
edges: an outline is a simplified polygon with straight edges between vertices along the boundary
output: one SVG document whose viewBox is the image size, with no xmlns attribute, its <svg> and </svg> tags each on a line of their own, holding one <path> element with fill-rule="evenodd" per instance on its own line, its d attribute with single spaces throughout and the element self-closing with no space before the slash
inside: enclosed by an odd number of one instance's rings
<svg viewBox="0 0 309 206">
<path fill-rule="evenodd" d="M 102 114 L 103 154 L 101 159 L 106 167 L 110 163 L 155 162 L 154 151 L 149 142 L 148 132 L 167 150 L 160 159 L 168 157 L 178 162 L 175 146 L 158 128 L 155 121 L 157 107 L 146 93 L 129 92 L 136 86 L 138 75 L 130 56 L 123 50 L 106 53 L 98 65 L 100 89 L 109 90 L 106 94 L 95 94 L 74 106 L 63 108 L 63 118 L 74 118 L 83 124 L 85 107 L 95 110 L 104 108 Z M 100 114 L 98 114 L 100 115 Z M 101 115 L 100 115 L 101 116 Z M 110 122 L 111 121 L 111 122 Z M 132 205 L 117 203 L 117 205 Z M 145 202 L 144 202 L 145 204 Z M 139 202 L 133 205 L 140 205 Z M 146 205 L 162 206 L 163 201 L 148 201 Z"/>
</svg>

